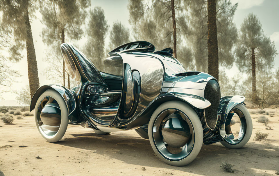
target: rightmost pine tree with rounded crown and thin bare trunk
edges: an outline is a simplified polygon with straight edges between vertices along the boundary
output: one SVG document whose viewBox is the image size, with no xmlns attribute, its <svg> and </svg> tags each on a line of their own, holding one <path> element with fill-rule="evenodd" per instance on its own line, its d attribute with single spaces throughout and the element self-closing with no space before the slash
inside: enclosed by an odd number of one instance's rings
<svg viewBox="0 0 279 176">
<path fill-rule="evenodd" d="M 263 30 L 260 20 L 254 14 L 244 19 L 236 49 L 236 63 L 242 72 L 252 71 L 252 101 L 256 103 L 256 71 L 273 67 L 277 54 L 274 42 L 271 42 Z"/>
</svg>

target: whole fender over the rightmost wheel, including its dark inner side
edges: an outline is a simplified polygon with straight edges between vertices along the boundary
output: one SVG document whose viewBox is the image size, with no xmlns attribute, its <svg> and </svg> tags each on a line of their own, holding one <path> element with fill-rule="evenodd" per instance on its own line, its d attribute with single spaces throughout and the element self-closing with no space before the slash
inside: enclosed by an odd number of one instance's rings
<svg viewBox="0 0 279 176">
<path fill-rule="evenodd" d="M 225 122 L 228 117 L 228 114 L 230 111 L 232 111 L 232 108 L 236 105 L 243 103 L 245 100 L 244 96 L 224 96 L 220 100 L 220 105 L 218 109 L 218 114 L 221 114 L 221 123 L 219 127 L 219 132 L 223 138 L 226 136 L 225 131 Z"/>
</svg>

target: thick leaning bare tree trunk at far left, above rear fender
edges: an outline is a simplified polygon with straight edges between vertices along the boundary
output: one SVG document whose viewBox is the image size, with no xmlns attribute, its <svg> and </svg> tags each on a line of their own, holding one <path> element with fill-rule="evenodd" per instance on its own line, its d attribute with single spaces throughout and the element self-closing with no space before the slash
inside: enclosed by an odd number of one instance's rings
<svg viewBox="0 0 279 176">
<path fill-rule="evenodd" d="M 33 36 L 31 31 L 31 25 L 29 21 L 28 9 L 26 9 L 26 14 L 24 15 L 25 25 L 26 25 L 26 52 L 27 52 L 27 65 L 28 65 L 28 79 L 30 96 L 33 97 L 36 90 L 40 87 L 38 67 L 36 60 L 36 53 L 33 43 Z"/>
</svg>

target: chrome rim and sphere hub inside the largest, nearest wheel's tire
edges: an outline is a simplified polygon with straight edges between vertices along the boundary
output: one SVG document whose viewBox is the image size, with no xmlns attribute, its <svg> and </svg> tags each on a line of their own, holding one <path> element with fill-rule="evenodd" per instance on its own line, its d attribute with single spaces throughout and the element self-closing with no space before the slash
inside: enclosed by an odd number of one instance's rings
<svg viewBox="0 0 279 176">
<path fill-rule="evenodd" d="M 153 123 L 152 136 L 157 151 L 170 161 L 186 158 L 195 140 L 192 122 L 178 109 L 166 109 L 159 113 Z"/>
</svg>

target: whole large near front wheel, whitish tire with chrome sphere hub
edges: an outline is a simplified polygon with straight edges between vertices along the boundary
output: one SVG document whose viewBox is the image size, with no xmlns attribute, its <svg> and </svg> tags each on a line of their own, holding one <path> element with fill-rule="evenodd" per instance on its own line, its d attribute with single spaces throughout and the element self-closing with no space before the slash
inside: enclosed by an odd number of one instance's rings
<svg viewBox="0 0 279 176">
<path fill-rule="evenodd" d="M 149 141 L 165 163 L 185 166 L 192 162 L 203 144 L 203 128 L 196 112 L 187 103 L 169 101 L 152 114 Z"/>
</svg>

